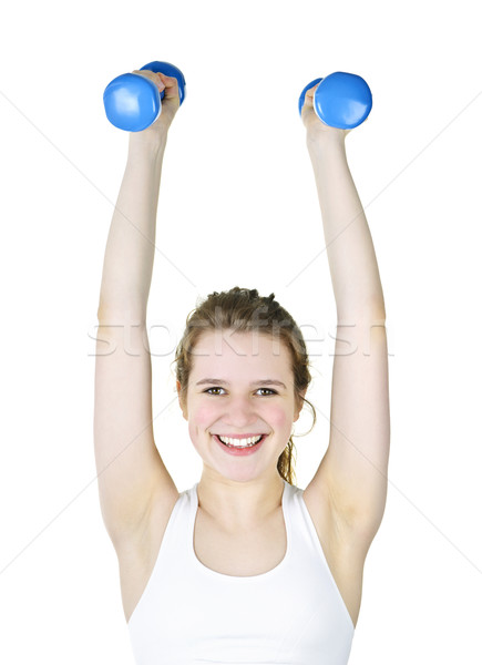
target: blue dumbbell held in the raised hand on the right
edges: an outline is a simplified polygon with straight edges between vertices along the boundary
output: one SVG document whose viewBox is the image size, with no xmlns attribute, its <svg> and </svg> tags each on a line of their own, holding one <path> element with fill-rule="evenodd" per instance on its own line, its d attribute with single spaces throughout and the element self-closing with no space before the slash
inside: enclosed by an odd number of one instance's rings
<svg viewBox="0 0 482 665">
<path fill-rule="evenodd" d="M 339 130 L 352 130 L 368 117 L 372 106 L 370 89 L 361 76 L 346 72 L 335 72 L 308 83 L 298 102 L 300 115 L 306 91 L 317 83 L 312 105 L 321 122 Z"/>
</svg>

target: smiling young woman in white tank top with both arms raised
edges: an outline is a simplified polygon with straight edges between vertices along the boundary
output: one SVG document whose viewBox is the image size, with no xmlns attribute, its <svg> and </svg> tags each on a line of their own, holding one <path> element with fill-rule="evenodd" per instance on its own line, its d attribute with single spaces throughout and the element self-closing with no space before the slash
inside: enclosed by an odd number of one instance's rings
<svg viewBox="0 0 482 665">
<path fill-rule="evenodd" d="M 94 438 L 136 663 L 346 665 L 390 440 L 384 301 L 348 132 L 317 117 L 316 86 L 308 91 L 301 119 L 339 327 L 328 450 L 297 488 L 293 424 L 311 407 L 311 377 L 293 317 L 274 294 L 214 291 L 191 313 L 175 356 L 180 407 L 203 460 L 199 481 L 180 492 L 154 443 L 146 334 L 161 170 L 180 100 L 176 79 L 135 73 L 165 98 L 158 120 L 130 134 L 109 234 Z"/>
</svg>

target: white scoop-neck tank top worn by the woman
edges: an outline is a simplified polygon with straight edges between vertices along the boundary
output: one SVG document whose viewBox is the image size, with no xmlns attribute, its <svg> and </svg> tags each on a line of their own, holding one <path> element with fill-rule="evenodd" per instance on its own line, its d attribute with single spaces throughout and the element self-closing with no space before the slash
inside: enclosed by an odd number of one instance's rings
<svg viewBox="0 0 482 665">
<path fill-rule="evenodd" d="M 353 623 L 304 490 L 284 482 L 286 555 L 248 577 L 201 563 L 194 551 L 198 483 L 180 494 L 127 624 L 137 665 L 346 665 Z"/>
</svg>

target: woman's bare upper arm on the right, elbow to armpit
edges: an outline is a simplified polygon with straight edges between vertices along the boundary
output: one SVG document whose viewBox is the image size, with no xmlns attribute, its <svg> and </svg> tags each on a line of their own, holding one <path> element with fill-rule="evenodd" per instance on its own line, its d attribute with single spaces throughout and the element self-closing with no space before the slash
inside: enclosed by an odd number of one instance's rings
<svg viewBox="0 0 482 665">
<path fill-rule="evenodd" d="M 389 447 L 384 318 L 338 324 L 330 439 L 311 483 L 367 550 L 383 516 Z"/>
</svg>

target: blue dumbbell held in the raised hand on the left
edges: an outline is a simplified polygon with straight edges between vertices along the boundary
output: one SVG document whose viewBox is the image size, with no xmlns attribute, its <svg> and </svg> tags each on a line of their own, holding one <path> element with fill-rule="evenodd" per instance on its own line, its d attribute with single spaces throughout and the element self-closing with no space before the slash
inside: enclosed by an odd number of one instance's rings
<svg viewBox="0 0 482 665">
<path fill-rule="evenodd" d="M 148 62 L 141 70 L 160 72 L 175 76 L 180 89 L 180 104 L 186 95 L 186 82 L 183 72 L 170 62 Z M 156 84 L 140 74 L 121 74 L 104 90 L 104 108 L 109 121 L 120 130 L 141 132 L 157 120 L 162 112 L 161 92 Z"/>
</svg>

